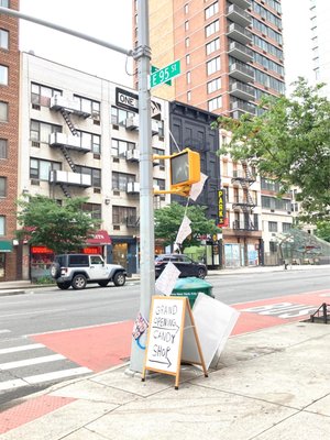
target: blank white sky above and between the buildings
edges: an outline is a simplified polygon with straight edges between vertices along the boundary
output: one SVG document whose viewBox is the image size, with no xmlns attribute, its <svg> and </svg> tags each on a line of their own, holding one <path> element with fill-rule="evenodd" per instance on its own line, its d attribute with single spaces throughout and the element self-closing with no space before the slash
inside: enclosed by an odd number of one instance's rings
<svg viewBox="0 0 330 440">
<path fill-rule="evenodd" d="M 282 4 L 287 85 L 298 76 L 311 80 L 309 0 L 282 0 Z M 132 0 L 21 0 L 21 12 L 132 48 Z M 25 20 L 21 21 L 20 48 L 123 86 L 133 85 L 131 58 Z"/>
</svg>

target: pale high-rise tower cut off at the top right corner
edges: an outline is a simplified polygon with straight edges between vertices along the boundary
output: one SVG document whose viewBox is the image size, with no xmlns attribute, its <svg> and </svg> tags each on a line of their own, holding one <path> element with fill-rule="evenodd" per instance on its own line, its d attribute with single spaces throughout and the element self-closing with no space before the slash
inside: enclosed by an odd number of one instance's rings
<svg viewBox="0 0 330 440">
<path fill-rule="evenodd" d="M 310 0 L 311 50 L 316 82 L 324 82 L 323 92 L 330 97 L 330 3 Z"/>
</svg>

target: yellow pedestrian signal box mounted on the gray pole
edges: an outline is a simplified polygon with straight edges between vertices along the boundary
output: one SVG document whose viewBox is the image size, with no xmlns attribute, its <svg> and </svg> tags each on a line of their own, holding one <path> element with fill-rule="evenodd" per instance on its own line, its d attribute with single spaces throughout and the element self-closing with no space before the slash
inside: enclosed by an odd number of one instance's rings
<svg viewBox="0 0 330 440">
<path fill-rule="evenodd" d="M 200 180 L 199 153 L 185 148 L 169 158 L 170 190 L 183 189 Z"/>
</svg>

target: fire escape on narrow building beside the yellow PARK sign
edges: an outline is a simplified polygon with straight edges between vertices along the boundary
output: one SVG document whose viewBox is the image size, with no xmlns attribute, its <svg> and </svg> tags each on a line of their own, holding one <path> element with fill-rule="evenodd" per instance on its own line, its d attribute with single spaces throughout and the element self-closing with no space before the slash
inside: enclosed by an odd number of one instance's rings
<svg viewBox="0 0 330 440">
<path fill-rule="evenodd" d="M 234 170 L 234 177 L 231 179 L 234 184 L 240 185 L 240 189 L 235 197 L 232 208 L 240 209 L 241 216 L 239 220 L 234 220 L 233 229 L 243 231 L 256 231 L 258 229 L 257 223 L 253 219 L 253 209 L 256 204 L 250 194 L 250 187 L 255 182 L 255 176 L 251 173 L 248 164 L 242 163 L 242 169 Z"/>
</svg>

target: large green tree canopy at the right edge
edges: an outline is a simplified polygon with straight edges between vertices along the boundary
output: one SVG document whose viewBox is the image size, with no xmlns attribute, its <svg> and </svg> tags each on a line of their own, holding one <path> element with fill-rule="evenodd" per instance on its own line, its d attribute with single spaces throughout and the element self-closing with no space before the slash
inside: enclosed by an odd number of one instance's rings
<svg viewBox="0 0 330 440">
<path fill-rule="evenodd" d="M 320 95 L 322 87 L 299 78 L 292 97 L 264 98 L 260 116 L 219 117 L 213 123 L 232 132 L 220 153 L 254 165 L 279 182 L 283 194 L 298 187 L 305 221 L 311 222 L 330 216 L 330 101 Z"/>
</svg>

